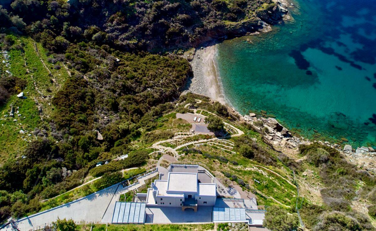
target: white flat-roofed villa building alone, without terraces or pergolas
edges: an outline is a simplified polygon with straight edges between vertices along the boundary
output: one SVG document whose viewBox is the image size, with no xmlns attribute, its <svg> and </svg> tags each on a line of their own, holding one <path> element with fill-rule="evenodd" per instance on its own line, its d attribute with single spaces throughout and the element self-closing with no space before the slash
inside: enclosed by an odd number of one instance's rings
<svg viewBox="0 0 376 231">
<path fill-rule="evenodd" d="M 171 206 L 194 208 L 197 205 L 214 206 L 217 198 L 217 185 L 199 183 L 198 173 L 168 172 L 167 180 L 155 180 L 148 189 L 147 206 Z"/>
</svg>

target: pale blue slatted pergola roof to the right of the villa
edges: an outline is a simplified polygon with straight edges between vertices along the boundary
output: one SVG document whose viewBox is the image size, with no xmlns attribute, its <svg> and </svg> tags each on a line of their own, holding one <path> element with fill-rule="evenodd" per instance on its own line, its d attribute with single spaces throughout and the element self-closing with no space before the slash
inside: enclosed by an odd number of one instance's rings
<svg viewBox="0 0 376 231">
<path fill-rule="evenodd" d="M 213 221 L 244 221 L 246 220 L 245 208 L 213 208 Z"/>
</svg>

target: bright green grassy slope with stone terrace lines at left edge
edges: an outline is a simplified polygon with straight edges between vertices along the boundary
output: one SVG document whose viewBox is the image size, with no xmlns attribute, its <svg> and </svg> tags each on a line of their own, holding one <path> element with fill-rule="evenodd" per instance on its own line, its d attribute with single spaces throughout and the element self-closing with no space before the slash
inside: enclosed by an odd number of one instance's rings
<svg viewBox="0 0 376 231">
<path fill-rule="evenodd" d="M 52 96 L 68 77 L 65 68 L 53 69 L 54 65 L 47 61 L 46 51 L 41 44 L 36 43 L 39 51 L 37 53 L 33 39 L 25 37 L 17 39 L 18 43 L 23 44 L 23 51 L 9 51 L 9 67 L 6 67 L 4 63 L 0 63 L 0 65 L 2 70 L 8 70 L 14 76 L 26 80 L 26 88 L 23 89 L 26 99 L 19 99 L 14 94 L 6 104 L 0 107 L 2 119 L 0 121 L 1 161 L 18 157 L 26 148 L 29 140 L 35 139 L 32 131 L 34 128 L 40 127 L 43 123 L 42 118 L 45 122 L 48 122 L 53 111 Z M 40 58 L 52 75 L 49 74 Z M 62 66 L 61 63 L 60 65 Z M 9 115 L 12 106 L 18 113 L 15 113 L 14 117 L 5 117 L 5 115 Z M 17 114 L 21 114 L 21 116 L 17 116 Z M 14 121 L 15 119 L 17 121 Z M 20 130 L 25 131 L 25 133 L 21 134 Z M 29 134 L 31 135 L 29 136 Z"/>
</svg>

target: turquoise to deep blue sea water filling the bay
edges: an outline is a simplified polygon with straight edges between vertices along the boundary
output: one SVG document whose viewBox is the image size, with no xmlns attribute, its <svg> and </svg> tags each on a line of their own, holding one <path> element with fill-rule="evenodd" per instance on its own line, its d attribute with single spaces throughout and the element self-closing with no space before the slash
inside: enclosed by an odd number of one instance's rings
<svg viewBox="0 0 376 231">
<path fill-rule="evenodd" d="M 293 3 L 293 21 L 218 45 L 227 100 L 242 114 L 265 110 L 305 137 L 375 146 L 375 2 Z"/>
</svg>

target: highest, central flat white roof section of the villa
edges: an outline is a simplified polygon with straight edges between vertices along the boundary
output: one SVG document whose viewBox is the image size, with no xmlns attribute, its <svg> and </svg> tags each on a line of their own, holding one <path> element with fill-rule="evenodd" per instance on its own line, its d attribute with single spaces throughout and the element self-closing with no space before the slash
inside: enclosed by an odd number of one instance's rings
<svg viewBox="0 0 376 231">
<path fill-rule="evenodd" d="M 197 173 L 169 172 L 167 191 L 197 192 Z"/>
</svg>

